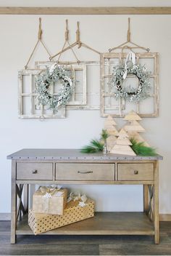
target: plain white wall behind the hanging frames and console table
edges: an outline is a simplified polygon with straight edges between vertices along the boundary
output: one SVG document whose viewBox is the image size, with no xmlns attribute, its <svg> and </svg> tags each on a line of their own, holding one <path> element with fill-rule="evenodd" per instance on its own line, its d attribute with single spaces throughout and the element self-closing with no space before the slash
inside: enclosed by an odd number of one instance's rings
<svg viewBox="0 0 171 256">
<path fill-rule="evenodd" d="M 14 1 L 0 1 L 0 6 L 14 6 Z M 28 3 L 27 3 L 28 2 Z M 72 6 L 91 6 L 92 1 L 72 1 Z M 139 1 L 141 2 L 141 1 Z M 70 1 L 15 1 L 16 6 L 67 6 Z M 93 1 L 92 6 L 135 6 L 137 1 Z M 142 2 L 141 2 L 142 4 Z M 139 4 L 139 6 L 141 5 Z M 169 6 L 170 1 L 143 1 L 144 6 Z M 17 117 L 17 71 L 24 68 L 37 40 L 38 15 L 0 16 L 0 212 L 10 212 L 9 153 L 21 148 L 80 148 L 98 137 L 104 124 L 99 111 L 69 111 L 67 119 L 46 121 L 22 120 Z M 160 213 L 171 213 L 170 201 L 170 15 L 41 15 L 43 39 L 52 54 L 64 41 L 64 20 L 69 19 L 70 41 L 75 41 L 76 22 L 80 21 L 81 40 L 101 52 L 126 39 L 131 17 L 133 41 L 159 52 L 159 117 L 143 119 L 143 137 L 164 156 L 159 172 Z M 81 60 L 98 60 L 98 55 L 80 51 Z M 34 60 L 46 60 L 42 50 Z M 33 63 L 32 63 L 33 64 Z M 99 81 L 97 81 L 99 83 Z M 119 120 L 120 122 L 120 120 Z M 78 185 L 96 199 L 98 210 L 141 210 L 142 188 L 129 185 Z"/>
</svg>

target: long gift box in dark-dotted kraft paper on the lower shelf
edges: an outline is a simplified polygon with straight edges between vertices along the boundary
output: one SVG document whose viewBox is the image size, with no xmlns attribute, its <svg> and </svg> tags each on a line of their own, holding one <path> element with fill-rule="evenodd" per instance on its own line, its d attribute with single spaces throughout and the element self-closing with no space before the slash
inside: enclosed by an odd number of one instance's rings
<svg viewBox="0 0 171 256">
<path fill-rule="evenodd" d="M 83 201 L 70 201 L 64 209 L 64 215 L 45 215 L 38 214 L 29 209 L 28 225 L 33 233 L 43 233 L 54 228 L 59 228 L 64 225 L 88 219 L 94 216 L 94 201 L 87 199 Z"/>
</svg>

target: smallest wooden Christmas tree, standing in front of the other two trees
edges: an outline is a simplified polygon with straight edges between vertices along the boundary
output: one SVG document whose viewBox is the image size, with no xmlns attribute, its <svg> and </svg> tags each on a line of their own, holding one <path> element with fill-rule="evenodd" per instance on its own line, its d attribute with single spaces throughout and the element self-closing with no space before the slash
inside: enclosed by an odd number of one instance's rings
<svg viewBox="0 0 171 256">
<path fill-rule="evenodd" d="M 128 156 L 136 156 L 135 152 L 130 148 L 130 145 L 132 143 L 128 139 L 129 135 L 127 132 L 125 132 L 124 129 L 121 129 L 119 132 L 119 137 L 116 140 L 116 144 L 110 151 L 110 153 L 119 153 L 122 155 L 128 155 Z"/>
</svg>

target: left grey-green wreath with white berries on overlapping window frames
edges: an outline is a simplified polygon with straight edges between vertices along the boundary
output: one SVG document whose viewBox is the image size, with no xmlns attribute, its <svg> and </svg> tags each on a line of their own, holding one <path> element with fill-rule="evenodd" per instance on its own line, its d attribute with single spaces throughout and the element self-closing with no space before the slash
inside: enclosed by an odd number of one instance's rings
<svg viewBox="0 0 171 256">
<path fill-rule="evenodd" d="M 57 95 L 51 94 L 51 87 L 54 83 L 62 87 Z M 73 90 L 73 81 L 68 76 L 61 65 L 54 63 L 46 68 L 45 71 L 36 76 L 36 92 L 38 93 L 38 103 L 47 105 L 53 111 L 57 111 L 59 106 L 66 105 L 70 100 Z"/>
</svg>

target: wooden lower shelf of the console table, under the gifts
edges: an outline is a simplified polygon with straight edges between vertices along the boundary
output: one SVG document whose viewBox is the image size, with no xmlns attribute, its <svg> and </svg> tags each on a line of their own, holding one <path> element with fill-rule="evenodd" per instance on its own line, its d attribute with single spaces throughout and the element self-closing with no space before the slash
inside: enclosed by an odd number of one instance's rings
<svg viewBox="0 0 171 256">
<path fill-rule="evenodd" d="M 17 225 L 16 233 L 31 235 L 28 216 Z M 154 224 L 143 212 L 96 212 L 94 217 L 65 225 L 41 235 L 154 235 Z"/>
</svg>

